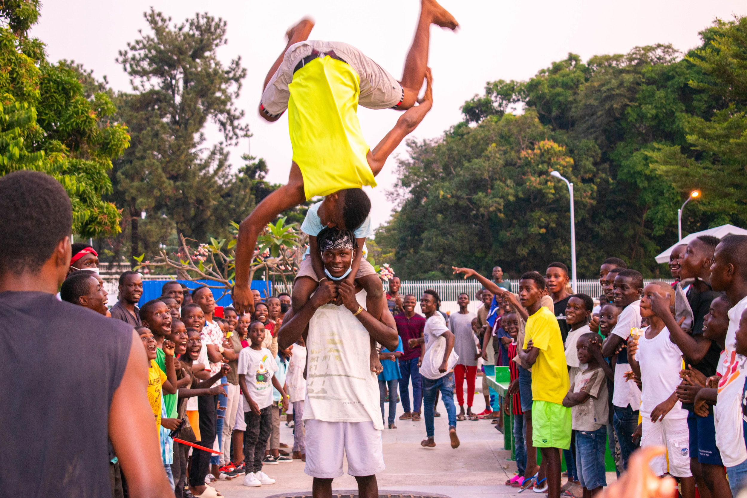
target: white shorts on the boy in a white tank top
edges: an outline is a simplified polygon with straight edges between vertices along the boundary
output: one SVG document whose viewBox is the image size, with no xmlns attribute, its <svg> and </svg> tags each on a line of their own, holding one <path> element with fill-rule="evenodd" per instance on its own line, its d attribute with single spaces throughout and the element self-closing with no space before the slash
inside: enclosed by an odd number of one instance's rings
<svg viewBox="0 0 747 498">
<path fill-rule="evenodd" d="M 651 422 L 651 416 L 642 420 L 641 447 L 666 446 L 666 456 L 660 455 L 651 460 L 651 471 L 657 476 L 667 472 L 675 477 L 692 476 L 690 472 L 689 429 L 686 418 L 665 418 L 661 422 Z"/>
</svg>

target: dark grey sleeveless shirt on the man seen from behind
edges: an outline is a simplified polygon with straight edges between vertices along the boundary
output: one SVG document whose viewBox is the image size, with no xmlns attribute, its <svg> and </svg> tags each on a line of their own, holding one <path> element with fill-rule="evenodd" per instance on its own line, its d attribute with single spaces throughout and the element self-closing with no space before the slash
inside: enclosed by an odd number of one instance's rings
<svg viewBox="0 0 747 498">
<path fill-rule="evenodd" d="M 111 497 L 109 406 L 131 340 L 54 294 L 0 293 L 2 496 Z"/>
</svg>

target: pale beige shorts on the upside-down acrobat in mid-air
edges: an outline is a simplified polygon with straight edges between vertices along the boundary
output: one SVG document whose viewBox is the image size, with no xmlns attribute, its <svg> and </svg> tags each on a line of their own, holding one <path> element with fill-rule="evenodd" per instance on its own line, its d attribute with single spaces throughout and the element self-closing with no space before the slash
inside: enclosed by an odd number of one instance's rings
<svg viewBox="0 0 747 498">
<path fill-rule="evenodd" d="M 261 105 L 271 116 L 279 116 L 288 109 L 291 97 L 288 84 L 293 81 L 298 63 L 314 50 L 320 54 L 334 51 L 337 57 L 355 69 L 361 79 L 358 103 L 363 107 L 386 109 L 402 102 L 405 93 L 399 81 L 356 47 L 341 42 L 306 40 L 288 47 L 282 63 L 262 93 Z"/>
</svg>

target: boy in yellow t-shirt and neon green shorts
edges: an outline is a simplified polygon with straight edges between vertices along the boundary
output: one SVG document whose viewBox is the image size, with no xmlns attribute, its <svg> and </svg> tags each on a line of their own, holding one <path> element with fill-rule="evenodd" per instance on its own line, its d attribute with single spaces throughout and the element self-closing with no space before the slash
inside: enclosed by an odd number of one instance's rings
<svg viewBox="0 0 747 498">
<path fill-rule="evenodd" d="M 545 277 L 537 272 L 524 273 L 518 296 L 529 319 L 524 328 L 524 349 L 518 355 L 532 366 L 532 440 L 542 451 L 542 469 L 547 484 L 537 480 L 535 488 L 547 488 L 549 498 L 560 498 L 560 452 L 571 447 L 571 408 L 562 405 L 570 381 L 565 364 L 565 349 L 560 326 L 552 311 L 540 303 Z M 527 461 L 527 476 L 532 476 Z M 544 470 L 544 472 L 542 471 Z M 537 479 L 536 477 L 534 479 Z"/>
</svg>

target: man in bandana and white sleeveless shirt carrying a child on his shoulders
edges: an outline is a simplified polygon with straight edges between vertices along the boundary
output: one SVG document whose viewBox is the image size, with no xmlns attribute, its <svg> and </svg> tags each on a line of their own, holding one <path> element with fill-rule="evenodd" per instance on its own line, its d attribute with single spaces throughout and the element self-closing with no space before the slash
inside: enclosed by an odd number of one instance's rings
<svg viewBox="0 0 747 498">
<path fill-rule="evenodd" d="M 359 495 L 378 496 L 376 473 L 385 468 L 384 425 L 379 384 L 368 358 L 372 341 L 395 349 L 397 330 L 366 311 L 362 287 L 334 279 L 344 276 L 359 251 L 355 234 L 324 228 L 317 243 L 330 278 L 320 282 L 299 311 L 286 314 L 278 337 L 285 349 L 303 335 L 309 352 L 304 472 L 314 477 L 314 497 L 331 497 L 332 480 L 342 476 L 345 455 Z"/>
</svg>

